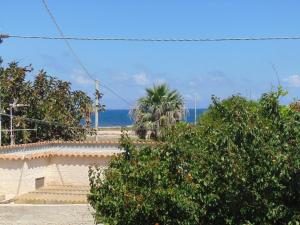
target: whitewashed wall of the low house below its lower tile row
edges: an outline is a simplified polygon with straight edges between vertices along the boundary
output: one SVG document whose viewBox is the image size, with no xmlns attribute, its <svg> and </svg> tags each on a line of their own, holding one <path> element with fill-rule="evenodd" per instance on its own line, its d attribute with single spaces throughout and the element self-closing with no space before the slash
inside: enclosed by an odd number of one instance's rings
<svg viewBox="0 0 300 225">
<path fill-rule="evenodd" d="M 35 180 L 45 185 L 88 185 L 89 165 L 105 167 L 110 157 L 53 157 L 32 160 L 0 159 L 0 196 L 10 199 L 35 190 Z"/>
</svg>

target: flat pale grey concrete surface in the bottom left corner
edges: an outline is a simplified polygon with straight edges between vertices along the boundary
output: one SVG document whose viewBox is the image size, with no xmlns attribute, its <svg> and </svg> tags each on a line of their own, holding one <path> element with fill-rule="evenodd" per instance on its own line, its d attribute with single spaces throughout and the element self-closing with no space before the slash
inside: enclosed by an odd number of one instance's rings
<svg viewBox="0 0 300 225">
<path fill-rule="evenodd" d="M 0 225 L 93 225 L 92 213 L 87 204 L 0 204 Z"/>
</svg>

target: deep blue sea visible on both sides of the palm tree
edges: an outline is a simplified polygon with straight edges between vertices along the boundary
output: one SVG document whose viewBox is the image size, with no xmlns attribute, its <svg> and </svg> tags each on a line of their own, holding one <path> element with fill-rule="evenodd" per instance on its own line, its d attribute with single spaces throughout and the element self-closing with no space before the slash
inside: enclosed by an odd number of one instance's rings
<svg viewBox="0 0 300 225">
<path fill-rule="evenodd" d="M 196 117 L 200 116 L 207 109 L 197 109 Z M 91 116 L 92 124 L 95 124 L 95 115 Z M 195 110 L 189 109 L 184 121 L 188 123 L 194 123 Z M 133 121 L 130 118 L 128 109 L 107 109 L 104 112 L 99 112 L 99 124 L 100 127 L 126 127 L 133 125 Z"/>
</svg>

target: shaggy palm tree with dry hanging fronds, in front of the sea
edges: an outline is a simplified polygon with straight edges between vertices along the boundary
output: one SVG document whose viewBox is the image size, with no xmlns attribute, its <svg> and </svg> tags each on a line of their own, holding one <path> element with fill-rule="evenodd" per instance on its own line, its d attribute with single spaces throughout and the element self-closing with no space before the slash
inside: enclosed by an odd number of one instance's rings
<svg viewBox="0 0 300 225">
<path fill-rule="evenodd" d="M 138 99 L 130 114 L 139 137 L 145 138 L 150 132 L 150 137 L 156 139 L 161 135 L 161 128 L 184 118 L 183 98 L 166 84 L 154 85 L 146 88 L 146 96 Z"/>
</svg>

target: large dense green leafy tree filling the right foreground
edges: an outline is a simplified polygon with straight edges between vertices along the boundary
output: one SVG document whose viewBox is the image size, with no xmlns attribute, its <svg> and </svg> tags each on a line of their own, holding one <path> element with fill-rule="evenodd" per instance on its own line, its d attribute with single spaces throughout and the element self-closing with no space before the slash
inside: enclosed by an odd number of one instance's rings
<svg viewBox="0 0 300 225">
<path fill-rule="evenodd" d="M 279 104 L 213 97 L 197 126 L 90 169 L 89 201 L 109 224 L 299 224 L 300 114 Z"/>
</svg>

